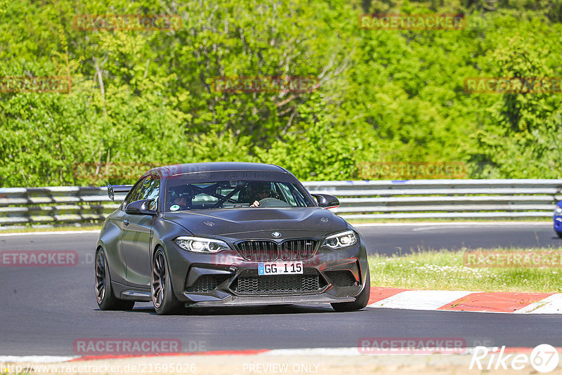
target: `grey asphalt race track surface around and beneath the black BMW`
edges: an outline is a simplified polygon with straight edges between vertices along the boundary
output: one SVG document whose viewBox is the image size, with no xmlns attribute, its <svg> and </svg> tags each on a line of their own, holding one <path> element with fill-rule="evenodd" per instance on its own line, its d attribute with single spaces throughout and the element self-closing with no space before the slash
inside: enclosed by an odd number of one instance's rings
<svg viewBox="0 0 562 375">
<path fill-rule="evenodd" d="M 560 246 L 549 225 L 362 226 L 370 252 L 401 249 Z M 562 346 L 562 316 L 367 308 L 335 313 L 329 305 L 191 309 L 159 316 L 150 303 L 100 311 L 93 292 L 97 233 L 0 236 L 0 251 L 77 251 L 74 267 L 0 267 L 0 355 L 75 355 L 91 338 L 179 339 L 182 351 L 354 348 L 364 337 L 455 337 L 467 346 Z"/>
</svg>

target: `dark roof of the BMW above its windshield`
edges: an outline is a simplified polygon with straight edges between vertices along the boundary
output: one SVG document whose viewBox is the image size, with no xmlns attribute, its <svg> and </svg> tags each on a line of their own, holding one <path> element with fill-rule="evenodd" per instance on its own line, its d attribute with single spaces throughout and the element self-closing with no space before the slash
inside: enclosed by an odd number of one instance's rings
<svg viewBox="0 0 562 375">
<path fill-rule="evenodd" d="M 275 164 L 243 163 L 243 162 L 208 162 L 174 164 L 157 166 L 150 169 L 145 175 L 156 174 L 162 177 L 176 176 L 184 173 L 220 172 L 220 171 L 267 171 L 289 173 L 286 169 Z M 290 173 L 289 173 L 290 174 Z"/>
</svg>

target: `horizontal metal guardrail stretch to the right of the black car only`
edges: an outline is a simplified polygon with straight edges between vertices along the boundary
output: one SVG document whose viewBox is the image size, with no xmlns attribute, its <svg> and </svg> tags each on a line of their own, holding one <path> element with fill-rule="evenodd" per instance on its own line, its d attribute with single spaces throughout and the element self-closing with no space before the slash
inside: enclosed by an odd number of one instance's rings
<svg viewBox="0 0 562 375">
<path fill-rule="evenodd" d="M 346 219 L 549 218 L 562 180 L 370 180 L 305 183 L 339 198 Z"/>
</svg>

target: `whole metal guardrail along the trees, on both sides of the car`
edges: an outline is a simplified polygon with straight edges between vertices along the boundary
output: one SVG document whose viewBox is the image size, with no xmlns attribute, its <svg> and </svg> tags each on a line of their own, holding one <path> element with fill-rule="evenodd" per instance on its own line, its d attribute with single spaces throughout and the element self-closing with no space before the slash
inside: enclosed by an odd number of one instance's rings
<svg viewBox="0 0 562 375">
<path fill-rule="evenodd" d="M 549 218 L 562 180 L 369 180 L 304 183 L 339 198 L 346 219 Z M 100 223 L 117 209 L 106 187 L 0 188 L 0 226 Z"/>
</svg>

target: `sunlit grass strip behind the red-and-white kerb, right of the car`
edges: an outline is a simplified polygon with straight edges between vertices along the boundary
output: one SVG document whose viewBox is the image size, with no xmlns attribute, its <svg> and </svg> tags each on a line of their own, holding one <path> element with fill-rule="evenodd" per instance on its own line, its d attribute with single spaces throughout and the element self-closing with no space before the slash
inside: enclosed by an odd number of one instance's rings
<svg viewBox="0 0 562 375">
<path fill-rule="evenodd" d="M 474 250 L 471 250 L 474 251 Z M 530 253 L 559 249 L 478 249 L 490 252 L 508 251 Z M 542 267 L 467 267 L 464 250 L 420 251 L 402 256 L 369 257 L 371 285 L 427 290 L 562 292 L 562 266 Z"/>
</svg>

